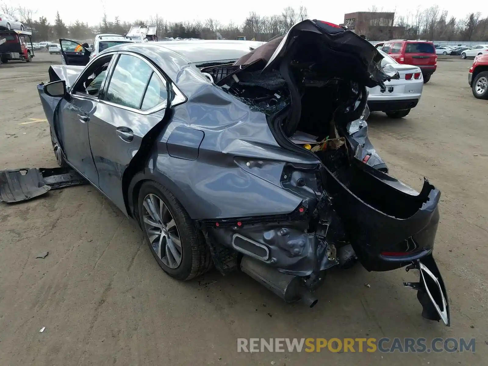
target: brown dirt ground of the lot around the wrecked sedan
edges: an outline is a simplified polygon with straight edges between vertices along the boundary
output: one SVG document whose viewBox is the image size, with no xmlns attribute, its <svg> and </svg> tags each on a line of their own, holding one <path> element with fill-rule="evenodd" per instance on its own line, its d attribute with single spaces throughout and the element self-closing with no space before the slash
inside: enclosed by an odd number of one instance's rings
<svg viewBox="0 0 488 366">
<path fill-rule="evenodd" d="M 421 317 L 403 269 L 332 271 L 313 309 L 244 274 L 177 282 L 136 224 L 85 185 L 0 204 L 0 365 L 487 365 L 488 103 L 468 86 L 472 60 L 449 60 L 406 118 L 368 123 L 391 175 L 442 191 L 434 256 L 451 327 Z M 1 169 L 57 166 L 36 84 L 58 61 L 0 65 Z M 240 337 L 475 337 L 476 352 L 251 354 L 237 352 Z"/>
</svg>

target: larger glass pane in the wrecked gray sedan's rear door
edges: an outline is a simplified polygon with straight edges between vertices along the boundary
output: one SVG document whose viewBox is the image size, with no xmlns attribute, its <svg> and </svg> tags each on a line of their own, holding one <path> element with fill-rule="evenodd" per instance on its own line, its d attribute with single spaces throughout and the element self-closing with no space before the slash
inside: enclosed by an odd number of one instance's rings
<svg viewBox="0 0 488 366">
<path fill-rule="evenodd" d="M 108 84 L 105 100 L 139 109 L 152 72 L 151 66 L 140 58 L 121 55 Z"/>
</svg>

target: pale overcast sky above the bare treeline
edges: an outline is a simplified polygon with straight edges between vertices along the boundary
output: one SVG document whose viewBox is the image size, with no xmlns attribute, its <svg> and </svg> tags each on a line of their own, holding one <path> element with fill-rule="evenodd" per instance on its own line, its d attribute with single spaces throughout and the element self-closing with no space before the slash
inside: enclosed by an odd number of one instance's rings
<svg viewBox="0 0 488 366">
<path fill-rule="evenodd" d="M 483 8 L 473 6 L 475 2 L 453 1 L 433 2 L 429 0 L 408 0 L 402 1 L 400 5 L 393 5 L 391 0 L 376 0 L 374 3 L 359 0 L 348 1 L 313 1 L 313 0 L 283 0 L 283 1 L 265 1 L 265 0 L 246 0 L 234 2 L 205 2 L 196 0 L 180 1 L 120 1 L 120 0 L 82 0 L 82 1 L 53 1 L 53 0 L 0 0 L 0 3 L 17 7 L 22 6 L 34 10 L 37 19 L 45 16 L 50 22 L 54 22 L 56 12 L 59 10 L 61 19 L 66 23 L 72 23 L 79 19 L 88 22 L 90 25 L 100 23 L 103 12 L 107 13 L 109 19 L 113 20 L 119 16 L 121 21 L 131 21 L 136 19 L 145 20 L 156 13 L 165 20 L 205 20 L 214 18 L 222 23 L 232 20 L 241 24 L 250 11 L 255 11 L 260 15 L 280 14 L 286 6 L 298 8 L 304 5 L 308 10 L 310 19 L 321 19 L 335 23 L 342 23 L 345 13 L 356 11 L 367 11 L 372 4 L 376 5 L 378 10 L 396 11 L 397 16 L 406 15 L 409 11 L 415 12 L 416 8 L 426 8 L 438 4 L 441 9 L 447 10 L 449 16 L 464 18 L 469 12 L 483 11 L 484 16 L 488 15 L 488 5 L 485 0 L 478 2 L 484 3 Z M 152 5 L 149 5 L 152 4 Z M 278 5 L 279 4 L 279 5 Z M 442 5 L 441 5 L 442 4 Z M 231 9 L 234 10 L 231 10 Z"/>
</svg>

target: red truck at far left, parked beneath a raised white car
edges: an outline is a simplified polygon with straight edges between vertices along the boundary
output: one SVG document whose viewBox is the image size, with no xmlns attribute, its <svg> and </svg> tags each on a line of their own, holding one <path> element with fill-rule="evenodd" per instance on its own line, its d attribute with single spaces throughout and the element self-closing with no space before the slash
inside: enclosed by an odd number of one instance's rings
<svg viewBox="0 0 488 366">
<path fill-rule="evenodd" d="M 23 30 L 0 31 L 0 61 L 20 60 L 30 62 L 34 57 L 32 33 Z"/>
</svg>

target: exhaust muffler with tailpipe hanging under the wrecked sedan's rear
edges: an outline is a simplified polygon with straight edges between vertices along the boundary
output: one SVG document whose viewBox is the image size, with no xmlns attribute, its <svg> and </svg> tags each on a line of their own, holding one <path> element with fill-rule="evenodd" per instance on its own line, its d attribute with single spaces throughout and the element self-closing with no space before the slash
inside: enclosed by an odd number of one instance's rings
<svg viewBox="0 0 488 366">
<path fill-rule="evenodd" d="M 301 277 L 279 272 L 263 262 L 244 256 L 241 261 L 241 270 L 264 285 L 286 303 L 302 301 L 312 308 L 319 301 L 312 292 L 305 287 Z"/>
</svg>

